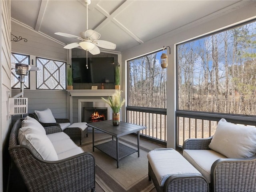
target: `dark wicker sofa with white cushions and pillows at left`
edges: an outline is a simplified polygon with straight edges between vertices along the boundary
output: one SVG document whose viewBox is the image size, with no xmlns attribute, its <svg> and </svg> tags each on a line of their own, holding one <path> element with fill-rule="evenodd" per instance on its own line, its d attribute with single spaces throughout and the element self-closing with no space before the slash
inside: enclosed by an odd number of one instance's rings
<svg viewBox="0 0 256 192">
<path fill-rule="evenodd" d="M 44 136 L 44 131 L 41 128 L 40 131 L 42 131 L 44 139 L 52 142 L 57 156 L 54 156 L 55 154 L 43 155 L 44 152 L 48 153 L 51 147 L 46 144 L 47 142 L 41 143 L 42 147 L 46 146 L 45 151 L 42 152 L 37 149 L 35 151 L 31 146 L 24 144 L 24 141 L 20 139 L 27 131 L 24 131 L 24 127 L 26 126 L 24 126 L 22 119 L 15 122 L 10 133 L 9 152 L 29 191 L 95 191 L 95 159 L 92 154 L 84 152 L 82 148 L 78 147 L 66 133 L 61 131 L 60 127 L 47 127 L 42 128 L 45 130 L 46 136 Z M 31 127 L 28 126 L 29 129 Z M 40 126 L 36 125 L 35 127 L 38 129 Z M 20 129 L 23 130 L 19 131 Z M 33 134 L 38 133 L 38 130 L 33 128 L 31 133 L 30 136 L 26 135 L 25 138 L 34 139 Z M 64 147 L 61 146 L 63 143 L 65 144 Z M 57 150 L 58 146 L 62 152 Z"/>
</svg>

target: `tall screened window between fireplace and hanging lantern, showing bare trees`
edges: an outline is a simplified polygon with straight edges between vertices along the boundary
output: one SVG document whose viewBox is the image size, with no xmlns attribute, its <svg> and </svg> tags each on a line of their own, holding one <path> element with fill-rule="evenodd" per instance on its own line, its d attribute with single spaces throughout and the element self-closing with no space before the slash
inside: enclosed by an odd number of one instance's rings
<svg viewBox="0 0 256 192">
<path fill-rule="evenodd" d="M 166 109 L 166 69 L 158 51 L 128 61 L 128 105 Z"/>
</svg>

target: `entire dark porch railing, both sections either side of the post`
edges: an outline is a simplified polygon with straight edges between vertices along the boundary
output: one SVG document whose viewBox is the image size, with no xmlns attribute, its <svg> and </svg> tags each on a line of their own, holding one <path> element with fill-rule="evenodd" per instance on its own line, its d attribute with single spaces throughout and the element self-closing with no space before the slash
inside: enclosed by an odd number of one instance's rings
<svg viewBox="0 0 256 192">
<path fill-rule="evenodd" d="M 176 111 L 176 148 L 182 148 L 186 139 L 207 138 L 214 135 L 221 118 L 234 124 L 256 127 L 254 116 Z M 166 109 L 126 107 L 126 122 L 146 126 L 140 134 L 148 139 L 166 143 Z"/>
</svg>

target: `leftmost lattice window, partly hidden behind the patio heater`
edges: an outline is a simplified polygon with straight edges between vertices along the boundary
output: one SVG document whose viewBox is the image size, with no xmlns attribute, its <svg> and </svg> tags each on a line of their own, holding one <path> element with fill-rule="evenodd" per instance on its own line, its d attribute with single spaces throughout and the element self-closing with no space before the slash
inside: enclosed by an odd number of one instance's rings
<svg viewBox="0 0 256 192">
<path fill-rule="evenodd" d="M 12 53 L 11 63 L 22 63 L 29 65 L 29 55 Z M 29 73 L 28 75 L 24 75 L 24 89 L 29 89 L 29 76 Z M 12 69 L 11 86 L 12 88 L 20 88 L 20 75 L 16 75 L 15 69 Z"/>
</svg>

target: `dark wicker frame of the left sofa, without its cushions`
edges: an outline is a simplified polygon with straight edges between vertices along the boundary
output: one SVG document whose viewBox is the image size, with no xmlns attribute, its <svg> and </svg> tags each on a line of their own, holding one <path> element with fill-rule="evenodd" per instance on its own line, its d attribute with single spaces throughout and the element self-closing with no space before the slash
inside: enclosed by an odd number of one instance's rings
<svg viewBox="0 0 256 192">
<path fill-rule="evenodd" d="M 90 153 L 81 153 L 57 161 L 37 158 L 31 150 L 18 144 L 18 119 L 10 133 L 9 152 L 30 192 L 85 192 L 95 191 L 95 159 Z M 60 132 L 50 127 L 46 133 Z"/>
</svg>

